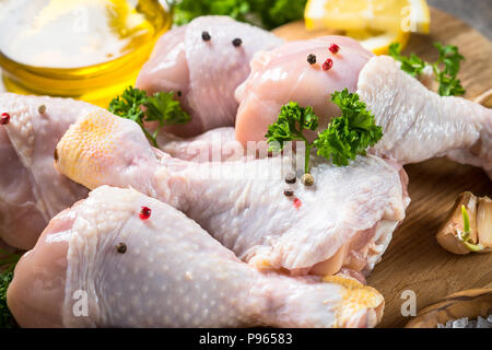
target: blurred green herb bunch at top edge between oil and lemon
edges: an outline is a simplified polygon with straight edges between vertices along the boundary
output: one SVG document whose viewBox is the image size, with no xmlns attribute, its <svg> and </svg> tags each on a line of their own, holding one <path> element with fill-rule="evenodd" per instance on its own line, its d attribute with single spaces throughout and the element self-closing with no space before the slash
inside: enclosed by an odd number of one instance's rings
<svg viewBox="0 0 492 350">
<path fill-rule="evenodd" d="M 186 24 L 200 15 L 229 15 L 237 21 L 272 30 L 301 20 L 307 0 L 167 0 L 174 23 Z"/>
</svg>

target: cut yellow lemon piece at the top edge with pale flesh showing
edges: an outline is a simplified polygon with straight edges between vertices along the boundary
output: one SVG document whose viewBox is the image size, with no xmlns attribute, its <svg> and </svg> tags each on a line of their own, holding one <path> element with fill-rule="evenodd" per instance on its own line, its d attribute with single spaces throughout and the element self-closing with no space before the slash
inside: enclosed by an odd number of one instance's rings
<svg viewBox="0 0 492 350">
<path fill-rule="evenodd" d="M 429 34 L 431 11 L 425 0 L 309 0 L 308 30 L 373 30 Z"/>
</svg>

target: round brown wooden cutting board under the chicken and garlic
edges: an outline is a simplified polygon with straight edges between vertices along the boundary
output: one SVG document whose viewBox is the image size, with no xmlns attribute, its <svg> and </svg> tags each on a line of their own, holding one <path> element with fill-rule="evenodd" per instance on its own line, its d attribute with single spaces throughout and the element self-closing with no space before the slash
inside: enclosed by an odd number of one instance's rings
<svg viewBox="0 0 492 350">
<path fill-rule="evenodd" d="M 432 9 L 431 35 L 412 35 L 405 54 L 415 52 L 427 61 L 435 61 L 433 43 L 453 44 L 466 57 L 459 78 L 467 89 L 466 97 L 475 100 L 492 88 L 492 44 L 456 18 Z M 274 31 L 289 40 L 336 34 L 330 31 L 307 32 L 302 22 L 291 23 Z M 492 196 L 492 183 L 477 167 L 458 165 L 438 159 L 406 166 L 410 177 L 412 202 L 407 219 L 394 238 L 367 283 L 386 300 L 380 327 L 402 327 L 408 317 L 401 315 L 401 293 L 417 294 L 421 310 L 446 295 L 473 288 L 492 288 L 492 254 L 457 256 L 445 252 L 435 234 L 457 196 L 470 190 L 476 195 Z"/>
</svg>

